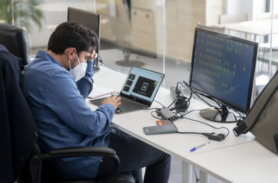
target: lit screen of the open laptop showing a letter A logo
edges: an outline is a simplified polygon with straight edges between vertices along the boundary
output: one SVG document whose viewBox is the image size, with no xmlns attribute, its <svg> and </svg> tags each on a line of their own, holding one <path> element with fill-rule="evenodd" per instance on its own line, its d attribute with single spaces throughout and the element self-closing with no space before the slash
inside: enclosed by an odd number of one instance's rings
<svg viewBox="0 0 278 183">
<path fill-rule="evenodd" d="M 132 66 L 120 95 L 150 106 L 164 76 L 161 73 Z"/>
</svg>

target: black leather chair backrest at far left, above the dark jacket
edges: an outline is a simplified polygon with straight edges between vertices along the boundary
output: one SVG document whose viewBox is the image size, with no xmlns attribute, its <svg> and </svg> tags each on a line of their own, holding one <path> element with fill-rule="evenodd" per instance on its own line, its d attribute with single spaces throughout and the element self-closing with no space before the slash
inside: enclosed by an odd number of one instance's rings
<svg viewBox="0 0 278 183">
<path fill-rule="evenodd" d="M 4 45 L 13 55 L 22 58 L 22 65 L 31 63 L 27 32 L 22 28 L 0 23 L 0 44 Z"/>
</svg>

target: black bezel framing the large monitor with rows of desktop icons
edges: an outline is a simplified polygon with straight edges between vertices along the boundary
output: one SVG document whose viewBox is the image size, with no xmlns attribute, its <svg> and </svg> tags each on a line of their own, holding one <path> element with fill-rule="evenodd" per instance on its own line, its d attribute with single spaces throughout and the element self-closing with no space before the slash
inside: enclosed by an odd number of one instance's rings
<svg viewBox="0 0 278 183">
<path fill-rule="evenodd" d="M 197 31 L 202 31 L 204 33 L 208 33 L 208 34 L 212 34 L 212 35 L 217 35 L 218 37 L 223 37 L 223 38 L 227 38 L 227 39 L 231 39 L 231 40 L 235 40 L 235 41 L 239 41 L 245 44 L 250 44 L 254 46 L 254 50 L 253 50 L 253 57 L 252 57 L 252 63 L 251 63 L 251 76 L 250 76 L 250 80 L 249 80 L 249 86 L 248 86 L 248 94 L 247 94 L 247 102 L 246 102 L 246 106 L 245 107 L 241 107 L 241 106 L 235 106 L 234 104 L 231 104 L 231 101 L 227 101 L 227 100 L 223 100 L 221 98 L 218 98 L 217 96 L 213 95 L 213 94 L 208 94 L 205 93 L 199 89 L 194 88 L 191 84 L 191 80 L 192 80 L 192 70 L 193 70 L 193 64 L 194 64 L 194 53 L 195 53 L 195 46 L 196 46 L 196 36 L 197 36 Z M 250 41 L 250 40 L 245 40 L 242 38 L 238 38 L 232 35 L 227 35 L 221 32 L 216 32 L 216 31 L 211 31 L 208 29 L 204 29 L 204 28 L 199 28 L 199 27 L 195 27 L 195 32 L 194 32 L 194 40 L 193 40 L 193 49 L 192 49 L 192 60 L 191 60 L 191 70 L 190 70 L 190 78 L 189 78 L 189 85 L 192 88 L 192 90 L 208 99 L 211 99 L 217 103 L 220 103 L 221 105 L 227 106 L 231 109 L 243 112 L 243 113 L 247 113 L 247 111 L 250 109 L 251 107 L 251 100 L 252 100 L 252 91 L 253 91 L 253 84 L 254 84 L 254 77 L 255 77 L 255 66 L 256 66 L 256 60 L 257 60 L 257 52 L 258 52 L 258 47 L 259 47 L 259 43 L 254 42 L 254 41 Z"/>
</svg>

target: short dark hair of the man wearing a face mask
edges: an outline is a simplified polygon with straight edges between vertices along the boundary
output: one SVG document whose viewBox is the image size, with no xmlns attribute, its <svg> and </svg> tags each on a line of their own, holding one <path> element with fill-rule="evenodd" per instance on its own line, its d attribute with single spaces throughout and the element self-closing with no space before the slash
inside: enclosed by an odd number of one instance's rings
<svg viewBox="0 0 278 183">
<path fill-rule="evenodd" d="M 75 48 L 79 55 L 82 51 L 92 52 L 98 44 L 94 31 L 78 22 L 61 23 L 51 34 L 47 50 L 63 54 L 66 48 Z"/>
</svg>

